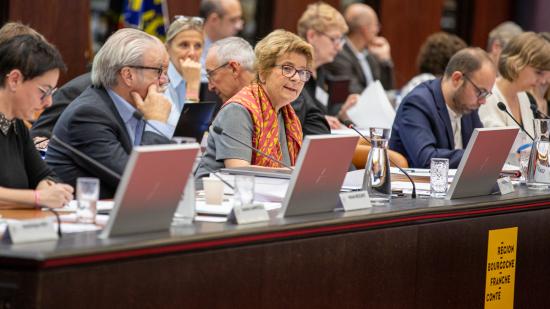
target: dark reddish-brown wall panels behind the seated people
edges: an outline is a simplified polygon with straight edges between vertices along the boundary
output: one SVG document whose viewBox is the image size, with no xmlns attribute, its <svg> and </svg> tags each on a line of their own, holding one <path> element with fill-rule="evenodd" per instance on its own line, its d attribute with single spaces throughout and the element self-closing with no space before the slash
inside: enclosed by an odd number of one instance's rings
<svg viewBox="0 0 550 309">
<path fill-rule="evenodd" d="M 37 5 L 42 2 L 41 5 Z M 273 0 L 256 2 L 256 33 L 259 39 L 270 30 L 295 31 L 296 22 L 313 1 Z M 326 0 L 341 8 L 340 0 Z M 392 49 L 398 85 L 416 74 L 418 48 L 431 33 L 441 29 L 448 0 L 367 1 L 377 11 L 382 35 Z M 167 0 L 170 16 L 198 15 L 200 1 Z M 527 30 L 550 31 L 550 2 L 544 0 L 457 0 L 455 33 L 473 46 L 486 47 L 489 31 L 505 20 L 515 20 Z M 0 22 L 29 24 L 53 42 L 69 67 L 60 84 L 86 71 L 91 60 L 89 1 L 0 0 Z"/>
</svg>

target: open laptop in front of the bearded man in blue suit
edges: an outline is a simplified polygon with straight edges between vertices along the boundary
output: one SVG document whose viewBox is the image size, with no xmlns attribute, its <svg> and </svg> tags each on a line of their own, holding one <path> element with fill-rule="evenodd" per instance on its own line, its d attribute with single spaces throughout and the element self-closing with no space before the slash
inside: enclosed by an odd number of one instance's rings
<svg viewBox="0 0 550 309">
<path fill-rule="evenodd" d="M 518 130 L 512 127 L 475 129 L 446 198 L 491 194 Z"/>
</svg>

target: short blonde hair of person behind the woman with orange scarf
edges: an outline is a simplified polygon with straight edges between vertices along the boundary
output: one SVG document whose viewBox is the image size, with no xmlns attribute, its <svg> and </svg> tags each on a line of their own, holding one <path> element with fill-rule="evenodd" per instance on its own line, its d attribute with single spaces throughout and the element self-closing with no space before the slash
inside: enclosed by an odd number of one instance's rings
<svg viewBox="0 0 550 309">
<path fill-rule="evenodd" d="M 348 25 L 340 12 L 332 6 L 319 1 L 308 5 L 302 17 L 298 20 L 299 36 L 305 38 L 309 29 L 322 33 L 337 29 L 342 33 L 347 33 Z"/>
</svg>

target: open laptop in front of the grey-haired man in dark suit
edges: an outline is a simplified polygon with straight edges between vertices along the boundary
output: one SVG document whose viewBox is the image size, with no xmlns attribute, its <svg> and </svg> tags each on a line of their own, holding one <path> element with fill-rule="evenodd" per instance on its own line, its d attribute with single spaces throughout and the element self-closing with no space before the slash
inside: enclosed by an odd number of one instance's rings
<svg viewBox="0 0 550 309">
<path fill-rule="evenodd" d="M 135 147 L 100 238 L 170 229 L 199 145 Z"/>
</svg>

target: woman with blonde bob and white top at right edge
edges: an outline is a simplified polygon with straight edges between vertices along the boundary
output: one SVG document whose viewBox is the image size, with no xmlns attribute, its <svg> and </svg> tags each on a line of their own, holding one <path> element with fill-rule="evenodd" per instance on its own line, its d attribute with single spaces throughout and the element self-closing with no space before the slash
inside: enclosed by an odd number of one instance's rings
<svg viewBox="0 0 550 309">
<path fill-rule="evenodd" d="M 500 76 L 492 89 L 493 95 L 479 109 L 483 126 L 518 126 L 498 108 L 497 104 L 502 102 L 508 112 L 534 136 L 533 111 L 526 91 L 545 83 L 550 76 L 550 42 L 534 32 L 524 32 L 514 37 L 500 54 L 498 71 Z"/>
</svg>

